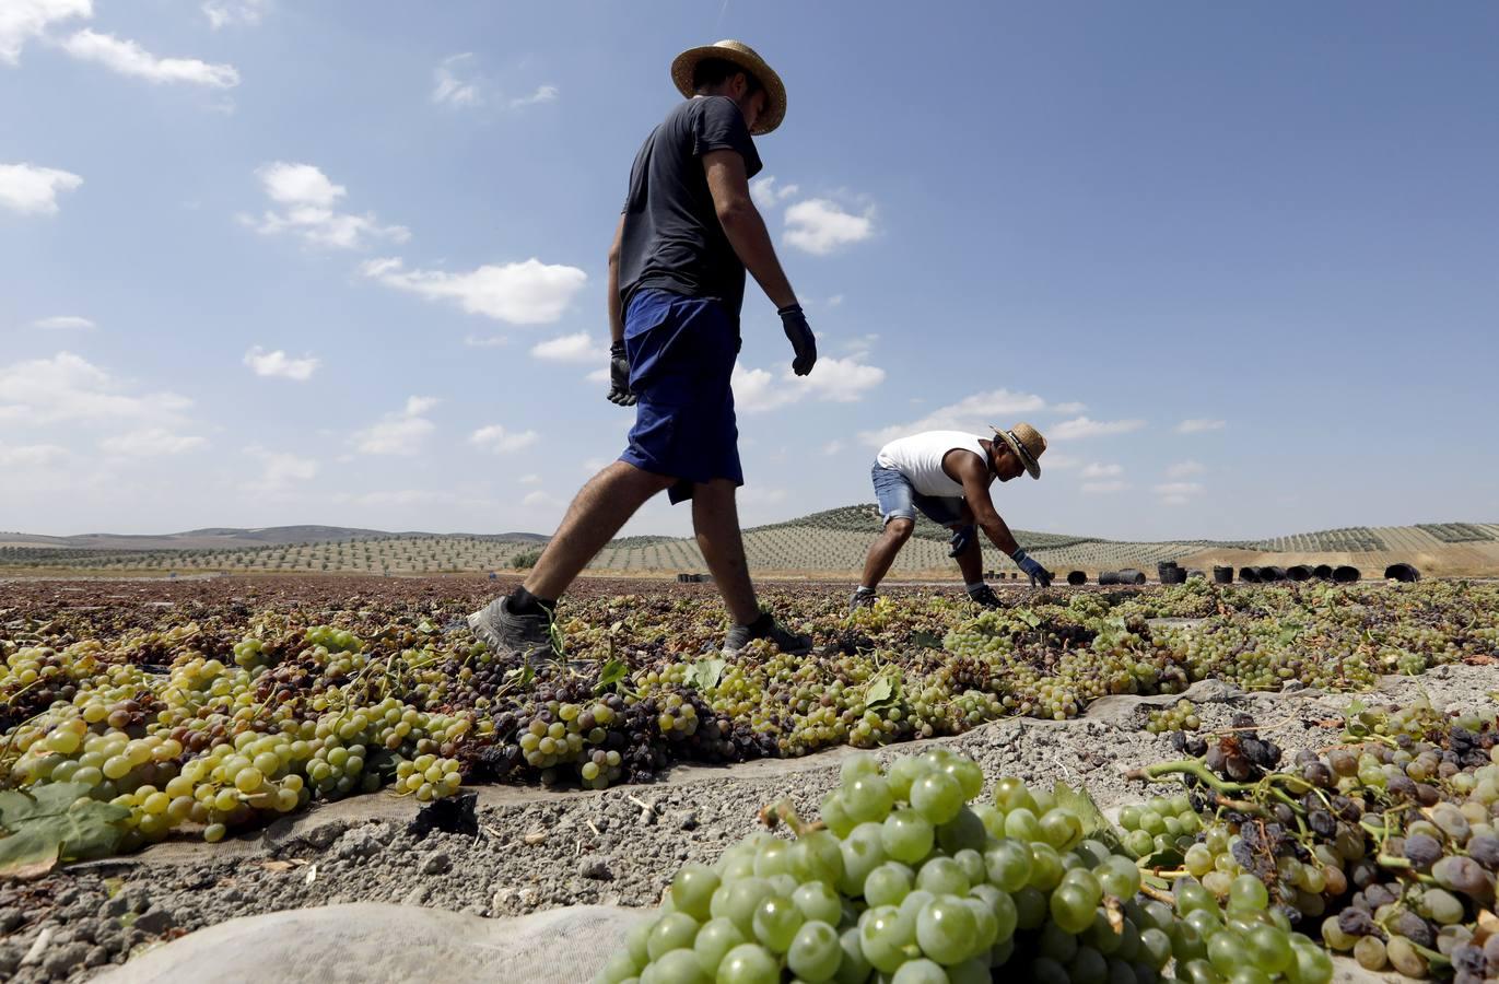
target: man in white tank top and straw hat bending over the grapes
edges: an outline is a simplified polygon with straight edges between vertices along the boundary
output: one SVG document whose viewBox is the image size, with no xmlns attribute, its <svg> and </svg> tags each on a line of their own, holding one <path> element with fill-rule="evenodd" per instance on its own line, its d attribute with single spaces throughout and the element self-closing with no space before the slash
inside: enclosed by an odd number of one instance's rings
<svg viewBox="0 0 1499 984">
<path fill-rule="evenodd" d="M 884 534 L 869 548 L 863 579 L 850 608 L 874 604 L 875 588 L 911 538 L 916 510 L 952 530 L 949 556 L 956 558 L 968 597 L 979 604 L 997 606 L 1000 598 L 983 584 L 983 552 L 974 526 L 1030 574 L 1031 584 L 1051 585 L 1052 573 L 1021 549 L 989 498 L 995 478 L 1009 482 L 1022 471 L 1040 478 L 1039 459 L 1046 450 L 1046 438 L 1028 423 L 1009 430 L 989 429 L 992 440 L 962 430 L 926 430 L 880 448 L 869 474 Z"/>
</svg>

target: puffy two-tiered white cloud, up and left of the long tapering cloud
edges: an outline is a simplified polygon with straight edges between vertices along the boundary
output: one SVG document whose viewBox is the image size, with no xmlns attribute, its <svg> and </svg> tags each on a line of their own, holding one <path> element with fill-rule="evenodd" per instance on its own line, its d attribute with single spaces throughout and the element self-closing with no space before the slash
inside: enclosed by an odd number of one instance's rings
<svg viewBox="0 0 1499 984">
<path fill-rule="evenodd" d="M 330 249 L 363 249 L 372 240 L 403 243 L 411 238 L 411 230 L 403 225 L 381 225 L 372 212 L 352 214 L 334 210 L 348 189 L 334 184 L 316 165 L 276 160 L 256 168 L 255 176 L 261 178 L 265 195 L 285 206 L 283 212 L 265 212 L 258 220 L 240 218 L 261 234 L 291 231 L 312 246 Z"/>
</svg>

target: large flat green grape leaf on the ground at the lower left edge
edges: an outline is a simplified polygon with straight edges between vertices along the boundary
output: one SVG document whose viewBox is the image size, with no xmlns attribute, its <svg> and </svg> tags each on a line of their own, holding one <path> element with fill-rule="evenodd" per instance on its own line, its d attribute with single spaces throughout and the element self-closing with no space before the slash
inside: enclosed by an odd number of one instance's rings
<svg viewBox="0 0 1499 984">
<path fill-rule="evenodd" d="M 0 876 L 34 878 L 57 861 L 112 854 L 124 834 L 124 807 L 87 798 L 82 783 L 43 783 L 0 792 Z"/>
</svg>

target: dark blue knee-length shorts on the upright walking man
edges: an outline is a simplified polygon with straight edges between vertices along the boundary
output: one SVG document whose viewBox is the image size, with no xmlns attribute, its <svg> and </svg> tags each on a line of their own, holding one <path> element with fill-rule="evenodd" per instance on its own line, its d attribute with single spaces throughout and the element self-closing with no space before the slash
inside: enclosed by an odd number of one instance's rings
<svg viewBox="0 0 1499 984">
<path fill-rule="evenodd" d="M 619 460 L 679 482 L 672 502 L 699 482 L 744 484 L 730 376 L 739 332 L 715 300 L 640 290 L 625 309 L 625 354 L 636 426 Z"/>
</svg>

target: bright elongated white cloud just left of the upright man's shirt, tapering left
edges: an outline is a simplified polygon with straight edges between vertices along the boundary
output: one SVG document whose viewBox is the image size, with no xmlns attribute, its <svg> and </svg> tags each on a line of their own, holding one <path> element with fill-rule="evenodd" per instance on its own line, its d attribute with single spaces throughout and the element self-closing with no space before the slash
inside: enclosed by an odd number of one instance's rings
<svg viewBox="0 0 1499 984">
<path fill-rule="evenodd" d="M 511 324 L 550 324 L 562 316 L 588 274 L 577 267 L 525 262 L 486 264 L 468 273 L 406 270 L 400 260 L 370 260 L 364 276 L 429 300 L 451 300 L 463 310 Z"/>
</svg>

